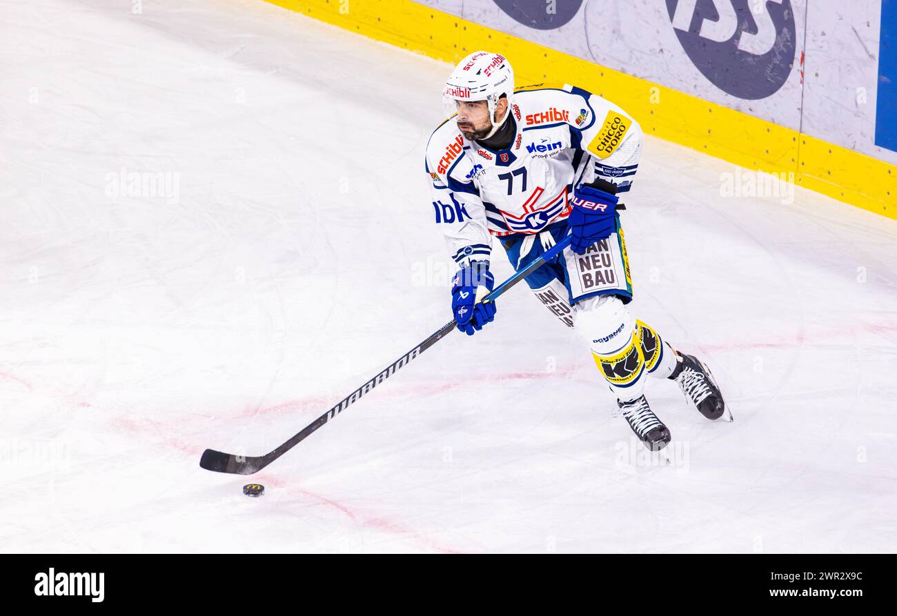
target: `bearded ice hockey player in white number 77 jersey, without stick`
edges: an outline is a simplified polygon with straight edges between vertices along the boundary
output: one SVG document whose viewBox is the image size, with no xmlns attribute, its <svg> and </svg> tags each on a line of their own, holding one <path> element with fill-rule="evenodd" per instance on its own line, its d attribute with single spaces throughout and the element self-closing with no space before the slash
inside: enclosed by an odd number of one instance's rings
<svg viewBox="0 0 897 616">
<path fill-rule="evenodd" d="M 632 431 L 651 450 L 670 441 L 643 394 L 648 377 L 675 380 L 701 414 L 722 416 L 704 363 L 675 351 L 628 308 L 618 211 L 639 168 L 639 124 L 575 86 L 514 90 L 509 61 L 485 51 L 461 60 L 443 101 L 453 115 L 431 135 L 425 164 L 436 222 L 460 268 L 451 289 L 458 329 L 474 334 L 495 317 L 494 303 L 479 302 L 494 285 L 491 236 L 520 268 L 570 234 L 570 247 L 526 281 L 588 343 Z"/>
</svg>

